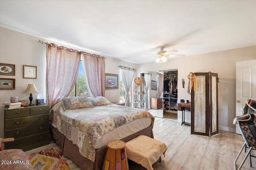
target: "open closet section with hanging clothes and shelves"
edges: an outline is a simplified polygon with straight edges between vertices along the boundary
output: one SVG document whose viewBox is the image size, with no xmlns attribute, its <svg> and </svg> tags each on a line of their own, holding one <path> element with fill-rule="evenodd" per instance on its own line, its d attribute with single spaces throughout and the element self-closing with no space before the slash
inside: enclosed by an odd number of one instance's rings
<svg viewBox="0 0 256 170">
<path fill-rule="evenodd" d="M 177 112 L 178 100 L 178 71 L 164 71 L 164 92 L 163 92 L 163 109 L 165 113 Z M 175 115 L 176 117 L 177 115 Z M 165 117 L 165 115 L 164 115 Z"/>
</svg>

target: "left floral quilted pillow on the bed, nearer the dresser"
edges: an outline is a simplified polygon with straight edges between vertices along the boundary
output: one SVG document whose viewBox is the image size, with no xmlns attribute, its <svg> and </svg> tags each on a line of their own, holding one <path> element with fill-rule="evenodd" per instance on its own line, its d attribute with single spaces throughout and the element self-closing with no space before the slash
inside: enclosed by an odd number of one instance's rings
<svg viewBox="0 0 256 170">
<path fill-rule="evenodd" d="M 64 97 L 61 104 L 65 111 L 94 107 L 87 97 Z"/>
</svg>

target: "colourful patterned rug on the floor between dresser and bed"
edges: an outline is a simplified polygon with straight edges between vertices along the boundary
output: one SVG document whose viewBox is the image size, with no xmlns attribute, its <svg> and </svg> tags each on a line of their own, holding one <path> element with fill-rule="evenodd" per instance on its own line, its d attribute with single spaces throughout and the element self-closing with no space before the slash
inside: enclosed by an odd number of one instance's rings
<svg viewBox="0 0 256 170">
<path fill-rule="evenodd" d="M 29 160 L 35 170 L 70 170 L 58 147 L 30 154 Z"/>
</svg>

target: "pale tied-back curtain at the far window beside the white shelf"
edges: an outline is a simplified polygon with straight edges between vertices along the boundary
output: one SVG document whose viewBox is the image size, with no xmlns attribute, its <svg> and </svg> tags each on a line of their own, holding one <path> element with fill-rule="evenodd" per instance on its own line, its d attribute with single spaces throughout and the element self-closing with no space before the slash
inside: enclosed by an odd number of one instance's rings
<svg viewBox="0 0 256 170">
<path fill-rule="evenodd" d="M 135 71 L 129 70 L 129 69 L 121 69 L 121 73 L 122 73 L 122 79 L 123 79 L 124 88 L 125 88 L 125 97 L 124 97 L 125 106 L 130 107 L 131 103 L 130 103 L 129 91 L 132 86 L 132 81 L 135 75 Z"/>
</svg>

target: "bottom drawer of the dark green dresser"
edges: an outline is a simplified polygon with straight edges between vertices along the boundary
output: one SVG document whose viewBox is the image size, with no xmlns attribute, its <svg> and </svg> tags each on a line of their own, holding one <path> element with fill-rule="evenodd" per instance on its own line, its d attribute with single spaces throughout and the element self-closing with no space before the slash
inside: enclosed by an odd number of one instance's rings
<svg viewBox="0 0 256 170">
<path fill-rule="evenodd" d="M 35 134 L 31 136 L 27 136 L 24 138 L 15 139 L 14 142 L 7 142 L 5 143 L 5 149 L 16 149 L 16 148 L 23 148 L 29 145 L 37 144 L 43 141 L 49 140 L 49 131 Z"/>
</svg>

